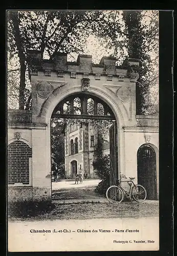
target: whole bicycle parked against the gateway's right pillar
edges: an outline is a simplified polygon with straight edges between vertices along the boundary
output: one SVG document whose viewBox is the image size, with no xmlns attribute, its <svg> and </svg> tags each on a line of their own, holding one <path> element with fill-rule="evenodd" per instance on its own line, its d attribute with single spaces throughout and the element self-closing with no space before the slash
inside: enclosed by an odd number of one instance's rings
<svg viewBox="0 0 177 256">
<path fill-rule="evenodd" d="M 106 190 L 106 198 L 109 202 L 114 204 L 119 204 L 124 199 L 124 195 L 132 200 L 135 200 L 136 202 L 142 203 L 146 199 L 147 193 L 146 189 L 142 185 L 135 185 L 133 177 L 129 177 L 130 180 L 128 181 L 122 181 L 122 178 L 127 179 L 125 176 L 122 176 L 120 179 L 118 179 L 118 185 L 112 185 L 107 188 Z M 121 182 L 127 182 L 130 186 L 129 193 L 121 187 Z"/>
</svg>

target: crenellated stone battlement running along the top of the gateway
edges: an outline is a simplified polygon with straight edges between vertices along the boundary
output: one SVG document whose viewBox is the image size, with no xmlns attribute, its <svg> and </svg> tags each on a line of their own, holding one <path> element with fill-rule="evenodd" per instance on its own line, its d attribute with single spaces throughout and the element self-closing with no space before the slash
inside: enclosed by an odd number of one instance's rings
<svg viewBox="0 0 177 256">
<path fill-rule="evenodd" d="M 30 75 L 37 75 L 38 71 L 43 71 L 47 76 L 50 72 L 57 72 L 58 76 L 64 73 L 110 75 L 138 78 L 138 73 L 133 67 L 139 65 L 139 59 L 128 58 L 122 66 L 116 66 L 116 58 L 102 57 L 99 64 L 92 62 L 92 55 L 79 54 L 76 62 L 67 61 L 67 54 L 57 53 L 52 60 L 41 59 L 41 52 L 28 50 L 28 64 Z"/>
</svg>

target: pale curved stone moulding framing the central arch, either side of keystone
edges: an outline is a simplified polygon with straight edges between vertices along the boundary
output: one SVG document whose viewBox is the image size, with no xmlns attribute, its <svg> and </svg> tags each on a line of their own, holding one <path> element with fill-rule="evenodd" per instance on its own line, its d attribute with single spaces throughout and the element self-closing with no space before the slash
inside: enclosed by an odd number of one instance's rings
<svg viewBox="0 0 177 256">
<path fill-rule="evenodd" d="M 50 169 L 50 155 L 51 155 L 51 148 L 50 148 L 50 120 L 56 105 L 64 100 L 65 98 L 81 93 L 81 88 L 78 86 L 72 86 L 67 83 L 61 88 L 57 88 L 53 91 L 53 93 L 47 98 L 47 100 L 41 106 L 40 114 L 37 116 L 38 123 L 45 123 L 47 124 L 47 133 L 46 133 L 46 141 L 47 141 L 47 156 L 49 156 L 47 160 L 47 166 Z M 116 95 L 111 93 L 107 88 L 94 88 L 90 87 L 90 91 L 88 92 L 89 95 L 96 96 L 103 100 L 109 108 L 113 111 L 118 127 L 118 169 L 120 173 L 124 173 L 125 169 L 125 150 L 124 150 L 124 133 L 122 127 L 124 126 L 124 118 L 123 115 L 126 115 L 124 112 L 123 107 L 121 106 L 121 102 Z M 48 146 L 49 145 L 49 146 Z"/>
</svg>

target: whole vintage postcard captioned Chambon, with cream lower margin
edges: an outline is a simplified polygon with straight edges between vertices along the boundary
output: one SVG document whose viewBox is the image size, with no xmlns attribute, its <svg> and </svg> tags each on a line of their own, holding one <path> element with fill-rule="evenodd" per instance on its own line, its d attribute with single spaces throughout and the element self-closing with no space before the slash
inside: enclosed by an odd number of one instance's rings
<svg viewBox="0 0 177 256">
<path fill-rule="evenodd" d="M 159 250 L 159 11 L 8 10 L 8 250 Z"/>
</svg>

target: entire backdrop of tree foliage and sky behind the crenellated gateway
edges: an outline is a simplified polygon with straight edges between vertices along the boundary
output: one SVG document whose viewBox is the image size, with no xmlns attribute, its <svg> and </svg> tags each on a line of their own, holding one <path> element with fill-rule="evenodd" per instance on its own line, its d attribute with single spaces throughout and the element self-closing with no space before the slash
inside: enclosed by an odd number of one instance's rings
<svg viewBox="0 0 177 256">
<path fill-rule="evenodd" d="M 158 11 L 8 11 L 7 19 L 10 108 L 16 100 L 19 109 L 30 108 L 27 49 L 33 49 L 49 59 L 56 52 L 71 54 L 73 60 L 78 53 L 95 53 L 94 59 L 99 54 L 115 56 L 119 65 L 127 56 L 140 58 L 138 113 L 156 113 Z"/>
</svg>

